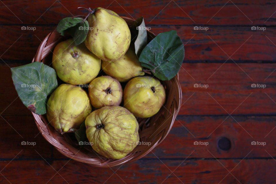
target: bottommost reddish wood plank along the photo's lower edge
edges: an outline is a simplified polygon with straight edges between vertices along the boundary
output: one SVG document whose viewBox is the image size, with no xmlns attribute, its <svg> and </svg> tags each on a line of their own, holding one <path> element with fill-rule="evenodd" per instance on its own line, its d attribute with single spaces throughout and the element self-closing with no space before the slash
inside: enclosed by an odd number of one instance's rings
<svg viewBox="0 0 276 184">
<path fill-rule="evenodd" d="M 119 168 L 95 168 L 76 161 L 1 161 L 11 183 L 275 183 L 274 160 L 138 160 Z M 162 163 L 163 162 L 163 163 Z M 221 162 L 221 163 L 220 163 Z M 239 163 L 240 162 L 240 163 Z M 224 168 L 225 167 L 225 168 Z M 117 170 L 118 169 L 118 170 Z M 56 171 L 58 173 L 56 173 Z M 227 171 L 231 171 L 231 174 Z M 242 171 L 242 172 L 241 172 Z M 116 172 L 116 174 L 114 174 Z M 173 172 L 173 173 L 172 173 Z M 172 174 L 171 174 L 172 173 Z M 8 181 L 0 175 L 0 182 Z M 167 178 L 167 179 L 166 179 Z M 78 182 L 77 182 L 78 183 Z"/>
</svg>

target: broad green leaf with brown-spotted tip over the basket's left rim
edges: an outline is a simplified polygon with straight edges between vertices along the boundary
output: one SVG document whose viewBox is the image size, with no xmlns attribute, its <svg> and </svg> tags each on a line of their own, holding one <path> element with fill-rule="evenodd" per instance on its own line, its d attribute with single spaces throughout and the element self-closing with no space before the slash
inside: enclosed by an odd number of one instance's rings
<svg viewBox="0 0 276 184">
<path fill-rule="evenodd" d="M 41 62 L 11 68 L 12 80 L 23 104 L 36 114 L 45 114 L 47 96 L 57 87 L 55 70 Z"/>
</svg>

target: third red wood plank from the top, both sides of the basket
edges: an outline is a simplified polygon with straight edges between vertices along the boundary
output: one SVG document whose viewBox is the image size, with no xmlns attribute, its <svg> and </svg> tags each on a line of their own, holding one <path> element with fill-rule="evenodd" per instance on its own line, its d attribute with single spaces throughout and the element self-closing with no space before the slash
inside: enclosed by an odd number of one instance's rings
<svg viewBox="0 0 276 184">
<path fill-rule="evenodd" d="M 18 65 L 20 64 L 9 64 L 10 67 Z M 233 63 L 182 64 L 179 80 L 183 100 L 179 114 L 228 115 L 233 112 L 232 115 L 275 115 L 276 72 L 273 70 L 276 64 L 239 63 L 238 65 Z M 4 111 L 3 115 L 16 116 L 30 114 L 17 98 L 18 95 L 11 80 L 11 71 L 5 64 L 1 64 L 0 67 L 0 80 L 5 84 L 5 87 L 0 89 L 2 102 L 0 113 Z M 194 84 L 207 84 L 208 88 L 196 88 Z M 264 84 L 266 87 L 252 88 L 252 84 Z"/>
</svg>

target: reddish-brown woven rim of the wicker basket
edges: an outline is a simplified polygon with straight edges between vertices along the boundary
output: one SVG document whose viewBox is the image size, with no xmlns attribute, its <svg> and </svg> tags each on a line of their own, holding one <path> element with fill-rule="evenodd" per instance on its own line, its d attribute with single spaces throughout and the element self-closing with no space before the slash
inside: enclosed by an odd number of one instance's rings
<svg viewBox="0 0 276 184">
<path fill-rule="evenodd" d="M 128 17 L 124 17 L 124 16 L 120 16 L 121 18 L 123 18 L 126 22 L 128 21 L 132 21 L 134 22 L 135 20 L 133 18 L 128 18 Z M 147 30 L 148 32 L 148 36 L 150 35 L 152 37 L 152 39 L 155 37 L 155 34 L 153 32 L 151 32 L 150 30 Z M 53 49 L 55 47 L 55 45 L 60 41 L 60 38 L 57 38 L 56 40 L 54 40 L 51 43 L 49 42 L 49 37 L 56 36 L 55 34 L 57 34 L 56 29 L 53 30 L 52 32 L 50 32 L 45 39 L 41 42 L 41 44 L 39 45 L 37 52 L 34 56 L 34 58 L 32 59 L 32 62 L 43 62 L 45 60 L 45 57 L 47 55 L 49 55 L 51 53 L 51 49 Z M 61 37 L 61 36 L 59 36 Z M 119 160 L 112 160 L 112 159 L 107 159 L 107 158 L 103 158 L 100 156 L 101 160 L 99 161 L 99 158 L 89 158 L 87 157 L 87 155 L 80 153 L 80 150 L 82 149 L 77 149 L 74 146 L 70 145 L 69 143 L 67 143 L 66 141 L 64 141 L 64 137 L 62 138 L 62 136 L 64 135 L 60 135 L 59 133 L 57 133 L 53 127 L 51 127 L 50 124 L 48 124 L 47 118 L 45 120 L 45 115 L 38 115 L 32 112 L 32 115 L 34 116 L 34 120 L 35 123 L 39 129 L 39 132 L 41 133 L 41 135 L 51 144 L 53 145 L 61 154 L 63 154 L 64 156 L 79 161 L 79 162 L 83 162 L 83 163 L 87 163 L 87 164 L 91 164 L 93 166 L 97 166 L 97 167 L 111 167 L 111 166 L 116 166 L 116 165 L 120 165 L 126 162 L 130 162 L 130 161 L 135 161 L 138 160 L 140 158 L 142 158 L 143 156 L 145 156 L 146 154 L 148 154 L 149 152 L 151 152 L 157 145 L 159 145 L 168 135 L 168 133 L 170 132 L 173 123 L 175 121 L 175 118 L 180 110 L 180 106 L 181 106 L 181 101 L 182 101 L 182 91 L 181 91 L 181 86 L 179 84 L 179 74 L 177 74 L 174 78 L 172 78 L 170 81 L 167 81 L 166 83 L 172 83 L 174 88 L 170 89 L 170 90 L 174 90 L 174 94 L 176 96 L 178 96 L 178 99 L 171 99 L 170 101 L 172 102 L 172 106 L 174 107 L 172 112 L 170 112 L 171 115 L 169 115 L 170 121 L 164 121 L 163 123 L 160 124 L 160 126 L 158 127 L 158 129 L 160 127 L 165 127 L 163 129 L 160 130 L 156 130 L 154 133 L 156 133 L 157 131 L 159 132 L 157 135 L 159 137 L 154 137 L 152 134 L 150 135 L 150 137 L 152 136 L 152 138 L 154 138 L 154 142 L 153 144 L 150 146 L 150 148 L 148 148 L 146 151 L 137 151 L 134 153 L 130 153 L 128 154 L 126 157 L 119 159 Z M 166 97 L 166 102 L 168 97 Z M 164 104 L 165 107 L 166 104 Z M 160 110 L 161 111 L 161 110 Z M 169 110 L 167 110 L 169 112 Z M 166 113 L 166 111 L 165 111 Z M 168 114 L 168 113 L 167 113 Z M 157 117 L 160 118 L 159 116 L 162 116 L 159 114 L 159 112 L 154 115 L 153 117 Z M 45 122 L 44 122 L 44 121 Z M 165 126 L 164 124 L 168 124 L 168 126 Z M 154 126 L 152 126 L 154 128 Z M 163 132 L 163 134 L 162 134 Z M 142 133 L 142 132 L 140 132 Z M 140 135 L 139 133 L 139 135 Z M 141 137 L 140 137 L 141 138 Z M 143 152 L 142 154 L 138 154 L 140 152 Z"/>
</svg>

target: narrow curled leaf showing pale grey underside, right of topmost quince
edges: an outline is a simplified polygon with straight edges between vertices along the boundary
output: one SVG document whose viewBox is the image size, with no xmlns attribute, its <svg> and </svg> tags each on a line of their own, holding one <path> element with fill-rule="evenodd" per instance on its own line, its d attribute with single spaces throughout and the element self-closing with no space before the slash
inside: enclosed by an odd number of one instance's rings
<svg viewBox="0 0 276 184">
<path fill-rule="evenodd" d="M 139 57 L 142 50 L 147 45 L 147 30 L 143 17 L 139 17 L 133 22 L 131 26 L 131 38 L 135 40 L 135 53 Z"/>
</svg>

